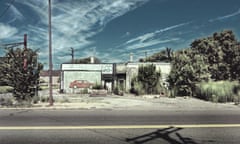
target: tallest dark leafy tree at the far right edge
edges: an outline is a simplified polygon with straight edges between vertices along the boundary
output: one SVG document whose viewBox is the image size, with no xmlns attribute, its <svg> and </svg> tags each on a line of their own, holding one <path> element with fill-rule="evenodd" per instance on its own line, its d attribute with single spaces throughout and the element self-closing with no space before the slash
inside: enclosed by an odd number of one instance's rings
<svg viewBox="0 0 240 144">
<path fill-rule="evenodd" d="M 195 40 L 191 44 L 195 54 L 204 56 L 211 79 L 236 79 L 236 63 L 239 62 L 239 43 L 231 30 L 214 33 L 213 36 Z"/>
</svg>

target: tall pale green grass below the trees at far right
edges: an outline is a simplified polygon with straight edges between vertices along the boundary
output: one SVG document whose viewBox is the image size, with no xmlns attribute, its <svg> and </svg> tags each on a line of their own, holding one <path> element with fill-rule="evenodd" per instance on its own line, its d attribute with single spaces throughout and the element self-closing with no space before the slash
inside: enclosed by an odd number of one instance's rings
<svg viewBox="0 0 240 144">
<path fill-rule="evenodd" d="M 196 97 L 212 102 L 233 102 L 237 81 L 202 82 L 196 85 Z"/>
</svg>

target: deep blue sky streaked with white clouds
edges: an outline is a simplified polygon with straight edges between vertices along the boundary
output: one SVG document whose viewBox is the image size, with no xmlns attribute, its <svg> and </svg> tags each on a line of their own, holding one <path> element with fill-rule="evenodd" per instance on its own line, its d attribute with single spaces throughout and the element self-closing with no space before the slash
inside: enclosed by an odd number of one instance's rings
<svg viewBox="0 0 240 144">
<path fill-rule="evenodd" d="M 12 5 L 10 5 L 12 3 Z M 48 68 L 48 0 L 1 0 L 0 44 L 21 42 L 40 49 Z M 182 49 L 197 38 L 231 29 L 240 36 L 239 0 L 52 0 L 53 62 L 58 68 L 95 55 L 127 62 L 165 47 Z M 1 51 L 0 55 L 4 55 Z"/>
</svg>

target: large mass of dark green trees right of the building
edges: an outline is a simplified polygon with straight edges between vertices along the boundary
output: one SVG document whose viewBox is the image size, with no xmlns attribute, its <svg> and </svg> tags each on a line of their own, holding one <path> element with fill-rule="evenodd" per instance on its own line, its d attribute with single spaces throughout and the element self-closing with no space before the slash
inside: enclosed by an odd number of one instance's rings
<svg viewBox="0 0 240 144">
<path fill-rule="evenodd" d="M 197 39 L 174 52 L 169 84 L 178 95 L 193 95 L 196 83 L 240 77 L 240 44 L 230 30 Z"/>
</svg>

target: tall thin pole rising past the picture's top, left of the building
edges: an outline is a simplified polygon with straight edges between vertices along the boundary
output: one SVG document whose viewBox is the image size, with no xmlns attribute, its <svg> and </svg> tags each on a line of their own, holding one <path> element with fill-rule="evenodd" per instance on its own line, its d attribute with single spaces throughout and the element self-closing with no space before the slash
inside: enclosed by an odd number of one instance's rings
<svg viewBox="0 0 240 144">
<path fill-rule="evenodd" d="M 51 22 L 51 0 L 48 0 L 48 34 L 49 34 L 49 106 L 53 106 L 52 95 L 52 22 Z"/>
</svg>

